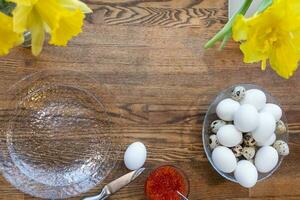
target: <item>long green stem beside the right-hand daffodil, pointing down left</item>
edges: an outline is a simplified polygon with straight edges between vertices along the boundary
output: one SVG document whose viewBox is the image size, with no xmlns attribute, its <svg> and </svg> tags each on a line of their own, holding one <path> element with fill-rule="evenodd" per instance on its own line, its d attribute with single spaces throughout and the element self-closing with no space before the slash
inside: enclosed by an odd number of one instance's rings
<svg viewBox="0 0 300 200">
<path fill-rule="evenodd" d="M 231 36 L 231 28 L 233 23 L 235 22 L 236 17 L 239 14 L 245 15 L 247 10 L 249 9 L 253 0 L 246 0 L 241 8 L 229 19 L 229 21 L 225 24 L 225 26 L 212 38 L 210 39 L 204 46 L 204 48 L 210 48 L 215 45 L 215 43 L 219 40 L 222 40 L 225 36 L 225 42 Z M 222 44 L 224 46 L 225 44 Z"/>
</svg>

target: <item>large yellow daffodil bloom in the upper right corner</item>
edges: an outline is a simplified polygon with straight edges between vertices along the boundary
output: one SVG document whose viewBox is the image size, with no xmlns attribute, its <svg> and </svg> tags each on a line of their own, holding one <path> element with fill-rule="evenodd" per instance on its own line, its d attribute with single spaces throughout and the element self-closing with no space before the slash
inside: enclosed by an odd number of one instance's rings
<svg viewBox="0 0 300 200">
<path fill-rule="evenodd" d="M 300 1 L 273 0 L 264 12 L 251 18 L 238 16 L 232 28 L 240 41 L 245 63 L 267 60 L 280 76 L 289 78 L 300 60 Z"/>
</svg>

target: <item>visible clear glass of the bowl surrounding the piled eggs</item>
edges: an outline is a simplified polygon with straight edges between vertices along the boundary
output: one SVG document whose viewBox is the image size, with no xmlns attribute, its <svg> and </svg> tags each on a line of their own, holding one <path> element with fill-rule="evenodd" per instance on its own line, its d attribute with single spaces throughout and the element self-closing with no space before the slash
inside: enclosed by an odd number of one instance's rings
<svg viewBox="0 0 300 200">
<path fill-rule="evenodd" d="M 259 89 L 262 90 L 266 96 L 267 96 L 267 102 L 268 103 L 274 103 L 280 106 L 280 104 L 278 103 L 278 101 L 269 93 L 267 92 L 265 89 L 263 89 L 260 86 L 257 85 L 253 85 L 253 84 L 238 84 L 241 86 L 244 86 L 246 88 L 246 90 L 249 89 Z M 219 93 L 219 95 L 214 99 L 214 101 L 210 104 L 208 111 L 206 112 L 205 118 L 204 118 L 204 122 L 203 122 L 203 129 L 202 129 L 202 140 L 203 140 L 203 147 L 204 147 L 204 151 L 206 153 L 206 156 L 208 158 L 208 161 L 210 162 L 210 164 L 212 165 L 212 167 L 224 178 L 226 178 L 227 180 L 230 180 L 232 182 L 237 182 L 236 179 L 234 178 L 234 174 L 233 173 L 224 173 L 222 171 L 220 171 L 213 163 L 212 161 L 212 151 L 209 147 L 209 136 L 211 135 L 210 133 L 210 124 L 218 119 L 217 115 L 216 115 L 216 107 L 219 104 L 220 101 L 222 101 L 225 98 L 229 98 L 231 96 L 231 92 L 233 91 L 233 89 L 236 87 L 237 85 L 233 85 L 229 88 L 226 88 L 225 90 L 223 90 L 222 92 Z M 282 108 L 282 106 L 280 106 Z M 285 116 L 285 113 L 282 113 L 282 117 L 281 120 L 285 123 L 286 127 L 287 126 L 287 119 Z M 276 135 L 276 140 L 283 140 L 285 142 L 288 143 L 288 130 L 286 131 L 286 133 L 281 134 L 281 135 Z M 276 167 L 268 172 L 268 173 L 258 173 L 258 181 L 262 181 L 268 177 L 270 177 L 281 165 L 282 161 L 283 161 L 284 156 L 279 156 L 279 161 L 276 165 Z"/>
</svg>

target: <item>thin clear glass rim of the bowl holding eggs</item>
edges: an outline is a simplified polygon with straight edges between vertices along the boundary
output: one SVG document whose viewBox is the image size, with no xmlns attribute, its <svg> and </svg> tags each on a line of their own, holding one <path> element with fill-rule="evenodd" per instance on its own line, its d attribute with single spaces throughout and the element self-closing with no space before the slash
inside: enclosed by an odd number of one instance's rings
<svg viewBox="0 0 300 200">
<path fill-rule="evenodd" d="M 232 90 L 234 87 L 236 87 L 236 86 L 238 86 L 238 85 L 244 86 L 246 89 L 260 89 L 260 90 L 262 90 L 263 92 L 265 92 L 266 94 L 270 95 L 270 96 L 273 98 L 273 100 L 275 100 L 275 101 L 277 102 L 277 104 L 278 104 L 279 106 L 281 106 L 281 105 L 278 103 L 278 101 L 276 100 L 276 98 L 273 97 L 273 96 L 272 96 L 269 92 L 267 92 L 264 88 L 262 88 L 262 87 L 260 87 L 260 86 L 258 86 L 258 85 L 255 85 L 255 84 L 248 84 L 248 83 L 235 84 L 235 85 L 232 85 L 232 86 L 230 86 L 230 87 L 227 87 L 226 89 L 222 90 L 222 91 L 214 98 L 214 100 L 212 101 L 212 103 L 209 105 L 208 110 L 207 110 L 207 112 L 206 112 L 206 114 L 205 114 L 204 121 L 203 121 L 203 126 L 202 126 L 202 142 L 203 142 L 203 148 L 204 148 L 204 151 L 205 151 L 205 155 L 206 155 L 206 157 L 207 157 L 209 163 L 211 164 L 211 166 L 214 168 L 215 171 L 217 171 L 223 178 L 225 178 L 225 179 L 227 179 L 227 180 L 229 180 L 229 181 L 235 182 L 235 183 L 237 183 L 237 180 L 236 180 L 236 179 L 231 178 L 231 177 L 229 177 L 229 176 L 226 176 L 227 174 L 231 174 L 231 173 L 224 173 L 224 172 L 220 171 L 220 170 L 215 166 L 215 164 L 213 163 L 212 158 L 211 158 L 211 156 L 209 155 L 209 147 L 208 147 L 208 144 L 205 143 L 205 123 L 208 122 L 208 113 L 209 113 L 209 111 L 212 109 L 213 103 L 214 103 L 214 102 L 215 102 L 222 94 L 227 93 L 228 91 Z M 283 121 L 285 122 L 285 125 L 286 125 L 286 127 L 287 127 L 287 131 L 286 131 L 285 134 L 286 134 L 286 138 L 287 138 L 287 139 L 286 139 L 286 140 L 287 140 L 286 142 L 288 142 L 288 135 L 289 135 L 289 133 L 288 133 L 288 126 L 287 126 L 287 119 L 286 119 L 286 115 L 285 115 L 285 112 L 284 112 L 284 111 L 283 111 L 283 113 L 282 113 L 282 119 L 283 119 Z M 280 167 L 280 165 L 282 164 L 283 159 L 284 159 L 284 156 L 281 156 L 280 159 L 279 159 L 279 161 L 278 161 L 278 163 L 277 163 L 277 165 L 276 165 L 276 167 L 275 167 L 272 171 L 270 171 L 269 173 L 267 173 L 267 175 L 265 175 L 263 178 L 258 179 L 257 182 L 263 181 L 263 180 L 269 178 L 271 175 L 273 175 L 274 172 L 277 171 L 277 169 L 278 169 L 278 168 Z"/>
</svg>

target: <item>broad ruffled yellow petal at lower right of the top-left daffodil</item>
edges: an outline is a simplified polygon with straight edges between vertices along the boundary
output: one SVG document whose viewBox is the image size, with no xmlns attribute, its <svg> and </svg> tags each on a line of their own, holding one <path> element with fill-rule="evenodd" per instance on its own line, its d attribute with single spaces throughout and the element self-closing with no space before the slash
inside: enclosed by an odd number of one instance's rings
<svg viewBox="0 0 300 200">
<path fill-rule="evenodd" d="M 78 9 L 66 12 L 61 18 L 58 26 L 51 32 L 50 44 L 66 46 L 68 41 L 81 33 L 84 14 Z"/>
</svg>

